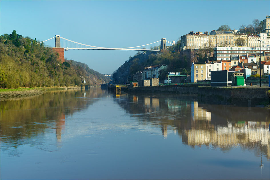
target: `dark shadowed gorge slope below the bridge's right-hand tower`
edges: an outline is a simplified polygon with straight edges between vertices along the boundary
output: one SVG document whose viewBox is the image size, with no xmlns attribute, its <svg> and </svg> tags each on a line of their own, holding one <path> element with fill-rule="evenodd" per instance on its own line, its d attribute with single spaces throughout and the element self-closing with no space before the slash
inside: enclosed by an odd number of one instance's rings
<svg viewBox="0 0 270 180">
<path fill-rule="evenodd" d="M 123 84 L 123 83 L 127 83 L 128 81 L 132 81 L 131 77 L 129 77 L 130 75 L 133 74 L 132 71 L 134 71 L 134 69 L 132 69 L 133 68 L 132 66 L 135 63 L 137 63 L 139 66 L 142 66 L 141 64 L 149 58 L 150 54 L 155 54 L 155 52 L 147 51 L 147 52 L 137 53 L 135 56 L 130 57 L 129 60 L 126 61 L 123 65 L 121 65 L 113 74 L 113 80 L 111 81 L 111 83 Z M 143 67 L 140 67 L 140 68 L 143 68 Z"/>
</svg>

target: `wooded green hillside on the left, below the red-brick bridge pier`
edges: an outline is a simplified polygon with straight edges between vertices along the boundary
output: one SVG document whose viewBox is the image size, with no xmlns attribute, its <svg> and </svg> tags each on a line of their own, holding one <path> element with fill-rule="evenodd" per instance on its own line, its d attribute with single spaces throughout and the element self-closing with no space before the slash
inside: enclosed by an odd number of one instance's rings
<svg viewBox="0 0 270 180">
<path fill-rule="evenodd" d="M 37 40 L 11 34 L 1 35 L 1 88 L 51 87 L 51 86 L 100 86 L 110 79 L 86 64 L 66 60 L 58 61 L 51 48 L 37 45 Z"/>
</svg>

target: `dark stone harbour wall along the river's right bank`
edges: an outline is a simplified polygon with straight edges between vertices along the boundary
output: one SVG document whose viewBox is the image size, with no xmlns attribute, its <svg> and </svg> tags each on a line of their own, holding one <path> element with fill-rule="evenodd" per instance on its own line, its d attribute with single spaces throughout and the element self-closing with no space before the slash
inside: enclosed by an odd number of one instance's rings
<svg viewBox="0 0 270 180">
<path fill-rule="evenodd" d="M 212 104 L 255 106 L 269 102 L 268 87 L 206 87 L 206 86 L 148 86 L 126 91 L 131 94 L 177 93 L 197 96 L 199 101 Z M 268 103 L 269 105 L 269 103 Z"/>
</svg>

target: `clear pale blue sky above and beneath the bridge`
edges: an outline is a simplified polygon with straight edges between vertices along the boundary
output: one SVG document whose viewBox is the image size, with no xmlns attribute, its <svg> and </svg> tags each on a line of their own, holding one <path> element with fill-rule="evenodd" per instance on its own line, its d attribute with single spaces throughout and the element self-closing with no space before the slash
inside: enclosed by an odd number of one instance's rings
<svg viewBox="0 0 270 180">
<path fill-rule="evenodd" d="M 44 41 L 55 34 L 101 47 L 132 47 L 269 15 L 268 1 L 1 1 L 0 33 Z M 54 39 L 47 41 L 54 47 Z M 137 51 L 69 50 L 67 59 L 109 74 Z"/>
</svg>

